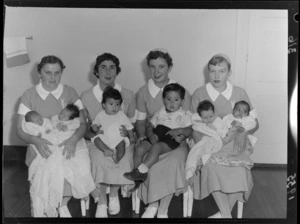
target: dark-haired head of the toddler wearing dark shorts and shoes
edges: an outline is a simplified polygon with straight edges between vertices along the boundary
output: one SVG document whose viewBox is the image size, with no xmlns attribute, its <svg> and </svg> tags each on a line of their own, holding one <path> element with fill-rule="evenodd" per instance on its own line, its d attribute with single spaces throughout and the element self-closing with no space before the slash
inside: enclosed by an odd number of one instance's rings
<svg viewBox="0 0 300 224">
<path fill-rule="evenodd" d="M 171 83 L 163 90 L 163 103 L 167 112 L 175 112 L 183 105 L 185 89 L 178 83 Z"/>
</svg>

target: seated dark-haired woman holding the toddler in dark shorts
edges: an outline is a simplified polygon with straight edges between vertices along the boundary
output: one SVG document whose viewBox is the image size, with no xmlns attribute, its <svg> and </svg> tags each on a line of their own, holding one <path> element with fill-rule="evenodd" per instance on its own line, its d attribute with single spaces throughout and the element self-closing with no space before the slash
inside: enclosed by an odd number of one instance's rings
<svg viewBox="0 0 300 224">
<path fill-rule="evenodd" d="M 143 162 L 142 150 L 149 144 L 145 140 L 148 122 L 154 113 L 163 106 L 163 88 L 167 84 L 175 83 L 169 78 L 173 63 L 165 49 L 150 51 L 146 59 L 151 79 L 138 90 L 136 95 L 138 141 L 134 152 L 135 168 Z M 186 91 L 183 110 L 187 111 L 190 103 L 190 94 Z M 185 137 L 182 136 L 182 139 Z M 168 217 L 168 207 L 174 193 L 178 195 L 186 187 L 184 165 L 187 152 L 187 145 L 182 142 L 177 149 L 160 156 L 159 161 L 150 168 L 147 180 L 141 184 L 138 190 L 139 198 L 145 204 L 149 204 L 142 218 L 154 218 L 157 213 L 158 218 Z"/>
</svg>

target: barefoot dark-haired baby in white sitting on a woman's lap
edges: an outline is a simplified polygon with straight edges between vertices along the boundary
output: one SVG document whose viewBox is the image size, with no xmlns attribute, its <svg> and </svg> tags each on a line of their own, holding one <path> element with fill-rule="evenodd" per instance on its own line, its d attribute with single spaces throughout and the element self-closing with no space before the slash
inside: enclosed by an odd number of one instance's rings
<svg viewBox="0 0 300 224">
<path fill-rule="evenodd" d="M 91 126 L 92 130 L 97 133 L 92 141 L 100 137 L 107 145 L 107 149 L 103 149 L 104 155 L 112 157 L 115 163 L 124 157 L 125 148 L 135 141 L 133 125 L 121 109 L 122 102 L 121 93 L 112 87 L 107 87 L 102 96 L 103 110 L 96 115 Z M 125 126 L 129 139 L 120 135 L 121 126 Z"/>
</svg>

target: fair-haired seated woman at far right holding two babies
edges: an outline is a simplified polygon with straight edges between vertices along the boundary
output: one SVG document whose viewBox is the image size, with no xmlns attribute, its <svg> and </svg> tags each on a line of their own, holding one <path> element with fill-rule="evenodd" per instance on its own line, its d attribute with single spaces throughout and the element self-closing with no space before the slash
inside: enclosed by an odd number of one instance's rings
<svg viewBox="0 0 300 224">
<path fill-rule="evenodd" d="M 216 113 L 221 118 L 232 113 L 236 102 L 244 100 L 250 105 L 250 114 L 256 117 L 256 112 L 245 90 L 228 82 L 231 74 L 231 62 L 226 55 L 213 56 L 208 62 L 208 73 L 209 82 L 196 89 L 192 96 L 191 111 L 195 117 L 197 117 L 198 104 L 203 100 L 211 101 L 215 106 Z M 231 210 L 237 200 L 244 202 L 249 198 L 253 187 L 251 172 L 243 166 L 243 160 L 237 156 L 239 152 L 237 148 L 234 148 L 233 143 L 239 138 L 247 137 L 247 134 L 253 134 L 258 129 L 257 119 L 256 122 L 256 127 L 247 132 L 238 133 L 237 128 L 231 128 L 228 133 L 231 141 L 223 142 L 221 150 L 211 155 L 211 158 L 215 158 L 215 160 L 208 160 L 201 169 L 201 187 L 200 189 L 194 188 L 194 195 L 199 195 L 198 199 L 204 199 L 212 194 L 220 210 L 209 218 L 231 218 Z M 194 131 L 193 137 L 195 142 L 198 142 L 202 134 Z M 234 138 L 235 140 L 233 140 Z M 240 161 L 240 165 L 230 166 L 221 163 L 224 158 L 229 159 L 229 156 L 231 159 Z M 249 157 L 243 159 L 251 161 Z M 218 161 L 220 162 L 218 163 Z"/>
</svg>

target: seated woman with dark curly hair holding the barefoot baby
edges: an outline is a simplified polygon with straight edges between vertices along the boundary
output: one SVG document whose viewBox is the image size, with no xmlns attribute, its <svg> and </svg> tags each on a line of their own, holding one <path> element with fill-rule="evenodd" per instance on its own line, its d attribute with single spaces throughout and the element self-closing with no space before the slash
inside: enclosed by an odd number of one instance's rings
<svg viewBox="0 0 300 224">
<path fill-rule="evenodd" d="M 119 59 L 110 53 L 104 53 L 96 58 L 94 65 L 94 75 L 98 78 L 97 84 L 81 95 L 81 100 L 87 114 L 89 124 L 96 115 L 103 110 L 102 94 L 106 87 L 111 86 L 119 90 L 122 95 L 122 110 L 132 123 L 135 122 L 135 98 L 131 90 L 123 88 L 115 82 L 117 75 L 121 72 Z M 120 130 L 121 134 L 126 133 L 126 129 Z M 132 181 L 123 177 L 124 172 L 129 172 L 133 167 L 132 150 L 133 145 L 126 148 L 123 158 L 116 164 L 111 157 L 105 156 L 105 151 L 109 149 L 100 139 L 94 138 L 96 134 L 90 131 L 86 133 L 86 138 L 91 139 L 88 146 L 92 163 L 92 176 L 96 184 L 96 190 L 92 196 L 98 201 L 96 217 L 107 217 L 106 188 L 110 186 L 108 212 L 110 215 L 117 215 L 120 212 L 120 202 L 118 190 L 120 186 L 133 184 Z"/>
</svg>

